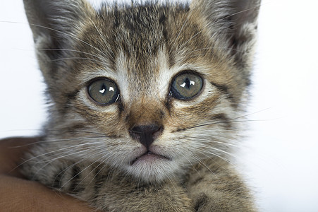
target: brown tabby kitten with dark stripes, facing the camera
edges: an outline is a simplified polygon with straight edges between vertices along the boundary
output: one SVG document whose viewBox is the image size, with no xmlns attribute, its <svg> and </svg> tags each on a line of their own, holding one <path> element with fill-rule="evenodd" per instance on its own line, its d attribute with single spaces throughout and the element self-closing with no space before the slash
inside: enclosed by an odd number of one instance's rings
<svg viewBox="0 0 318 212">
<path fill-rule="evenodd" d="M 231 167 L 260 0 L 24 0 L 49 120 L 23 173 L 104 211 L 255 211 Z"/>
</svg>

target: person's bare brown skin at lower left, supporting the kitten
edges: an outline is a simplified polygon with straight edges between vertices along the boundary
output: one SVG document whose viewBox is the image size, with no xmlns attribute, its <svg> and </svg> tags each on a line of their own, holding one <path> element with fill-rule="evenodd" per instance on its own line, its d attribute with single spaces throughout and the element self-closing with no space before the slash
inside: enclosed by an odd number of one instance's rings
<svg viewBox="0 0 318 212">
<path fill-rule="evenodd" d="M 0 208 L 4 211 L 92 211 L 84 202 L 25 179 L 17 165 L 38 138 L 0 140 Z"/>
</svg>

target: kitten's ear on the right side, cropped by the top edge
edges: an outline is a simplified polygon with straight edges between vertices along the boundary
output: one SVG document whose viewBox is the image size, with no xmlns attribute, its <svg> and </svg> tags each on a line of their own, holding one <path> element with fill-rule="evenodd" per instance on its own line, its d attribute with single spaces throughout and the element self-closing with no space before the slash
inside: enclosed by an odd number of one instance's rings
<svg viewBox="0 0 318 212">
<path fill-rule="evenodd" d="M 243 62 L 246 61 L 247 53 L 252 53 L 250 51 L 255 43 L 260 2 L 261 0 L 193 0 L 191 6 L 199 16 L 207 20 L 212 40 L 219 41 L 220 45 L 231 50 L 230 53 L 236 59 Z"/>
</svg>

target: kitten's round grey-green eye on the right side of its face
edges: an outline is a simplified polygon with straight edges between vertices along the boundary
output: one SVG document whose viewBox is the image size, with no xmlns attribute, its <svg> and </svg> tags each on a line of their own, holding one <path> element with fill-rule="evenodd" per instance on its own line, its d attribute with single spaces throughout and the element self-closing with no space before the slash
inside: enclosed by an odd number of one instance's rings
<svg viewBox="0 0 318 212">
<path fill-rule="evenodd" d="M 181 73 L 173 79 L 170 94 L 179 100 L 188 100 L 198 93 L 203 86 L 202 78 L 195 73 Z"/>
</svg>

